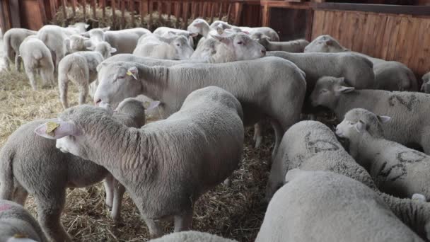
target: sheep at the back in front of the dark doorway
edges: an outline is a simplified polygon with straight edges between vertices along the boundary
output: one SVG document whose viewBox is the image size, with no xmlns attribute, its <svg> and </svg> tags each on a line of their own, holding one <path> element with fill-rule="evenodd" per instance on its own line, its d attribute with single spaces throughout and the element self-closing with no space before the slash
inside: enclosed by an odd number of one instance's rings
<svg viewBox="0 0 430 242">
<path fill-rule="evenodd" d="M 305 50 L 305 47 L 309 45 L 308 40 L 292 40 L 286 42 L 270 41 L 267 35 L 263 35 L 260 32 L 254 32 L 250 35 L 250 38 L 257 40 L 267 51 L 285 51 L 291 53 L 301 53 Z"/>
</svg>

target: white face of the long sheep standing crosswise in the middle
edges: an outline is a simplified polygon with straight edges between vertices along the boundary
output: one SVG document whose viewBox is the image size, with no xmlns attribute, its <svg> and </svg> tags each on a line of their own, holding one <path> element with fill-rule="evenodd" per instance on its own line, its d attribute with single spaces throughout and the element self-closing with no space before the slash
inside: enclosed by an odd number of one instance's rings
<svg viewBox="0 0 430 242">
<path fill-rule="evenodd" d="M 138 81 L 138 70 L 131 64 L 109 64 L 98 71 L 97 90 L 94 103 L 108 103 L 112 108 L 124 100 L 141 93 L 141 82 Z"/>
</svg>

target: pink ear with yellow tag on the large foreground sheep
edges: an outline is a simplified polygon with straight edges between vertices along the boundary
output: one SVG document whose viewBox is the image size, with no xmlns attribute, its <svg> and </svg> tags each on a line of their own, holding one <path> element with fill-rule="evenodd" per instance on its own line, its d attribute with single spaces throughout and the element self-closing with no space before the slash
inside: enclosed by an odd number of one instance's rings
<svg viewBox="0 0 430 242">
<path fill-rule="evenodd" d="M 81 130 L 73 122 L 48 121 L 35 129 L 35 133 L 47 139 L 61 139 L 67 135 L 79 136 Z"/>
</svg>

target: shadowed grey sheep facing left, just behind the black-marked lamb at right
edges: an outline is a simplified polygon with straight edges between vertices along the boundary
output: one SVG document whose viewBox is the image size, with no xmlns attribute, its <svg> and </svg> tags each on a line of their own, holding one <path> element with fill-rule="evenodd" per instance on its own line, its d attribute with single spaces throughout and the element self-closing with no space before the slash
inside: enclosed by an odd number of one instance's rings
<svg viewBox="0 0 430 242">
<path fill-rule="evenodd" d="M 418 144 L 430 154 L 430 96 L 424 93 L 354 90 L 342 79 L 322 77 L 310 95 L 313 106 L 334 111 L 339 120 L 353 108 L 364 108 L 378 115 L 395 117 L 383 124 L 385 139 L 403 145 Z"/>
</svg>

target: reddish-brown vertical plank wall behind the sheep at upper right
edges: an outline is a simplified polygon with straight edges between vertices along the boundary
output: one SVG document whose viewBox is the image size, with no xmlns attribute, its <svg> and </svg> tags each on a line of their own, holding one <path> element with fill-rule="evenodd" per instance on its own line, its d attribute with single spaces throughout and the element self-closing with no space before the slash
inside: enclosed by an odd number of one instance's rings
<svg viewBox="0 0 430 242">
<path fill-rule="evenodd" d="M 312 38 L 332 35 L 350 50 L 430 71 L 430 18 L 388 13 L 315 10 Z"/>
</svg>

